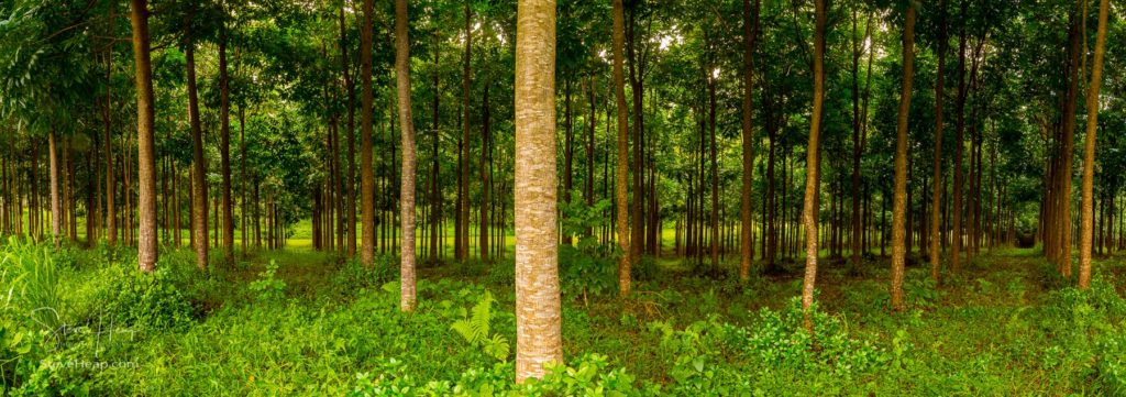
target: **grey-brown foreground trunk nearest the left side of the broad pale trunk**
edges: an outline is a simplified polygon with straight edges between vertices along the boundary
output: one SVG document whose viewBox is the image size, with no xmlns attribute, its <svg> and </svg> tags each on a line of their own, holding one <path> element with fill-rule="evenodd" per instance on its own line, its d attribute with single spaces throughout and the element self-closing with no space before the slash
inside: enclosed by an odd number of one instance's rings
<svg viewBox="0 0 1126 397">
<path fill-rule="evenodd" d="M 372 0 L 365 0 L 370 2 Z M 365 24 L 367 24 L 365 21 Z M 406 29 L 406 0 L 395 0 L 395 81 L 399 91 L 399 125 L 403 143 L 400 222 L 403 228 L 402 262 L 400 264 L 400 308 L 413 312 L 414 291 L 414 121 L 411 116 L 410 44 Z M 370 55 L 365 55 L 365 57 Z M 367 64 L 370 64 L 367 61 Z M 367 79 L 365 79 L 366 81 Z M 365 84 L 365 90 L 369 90 Z M 365 97 L 367 93 L 365 93 Z M 369 112 L 365 111 L 364 117 Z"/>
</svg>

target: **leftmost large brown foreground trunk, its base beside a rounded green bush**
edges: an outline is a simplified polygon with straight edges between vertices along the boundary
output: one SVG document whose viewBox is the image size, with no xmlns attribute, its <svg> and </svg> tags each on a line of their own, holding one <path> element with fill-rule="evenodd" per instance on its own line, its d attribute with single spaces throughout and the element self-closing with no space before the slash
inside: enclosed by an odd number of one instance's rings
<svg viewBox="0 0 1126 397">
<path fill-rule="evenodd" d="M 141 182 L 141 238 L 137 261 L 143 272 L 157 269 L 157 173 L 153 154 L 152 63 L 149 55 L 149 6 L 146 0 L 132 0 L 129 20 L 133 26 L 133 57 L 137 88 L 137 166 Z"/>
</svg>

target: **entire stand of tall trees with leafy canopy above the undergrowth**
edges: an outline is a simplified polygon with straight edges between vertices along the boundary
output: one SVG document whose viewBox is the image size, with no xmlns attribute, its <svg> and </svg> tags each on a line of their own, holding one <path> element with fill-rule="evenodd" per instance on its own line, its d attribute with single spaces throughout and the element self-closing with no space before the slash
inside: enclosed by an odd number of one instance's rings
<svg viewBox="0 0 1126 397">
<path fill-rule="evenodd" d="M 939 281 L 1043 244 L 1071 277 L 1078 249 L 1085 287 L 1126 247 L 1107 0 L 0 13 L 0 232 L 136 245 L 142 271 L 184 244 L 202 269 L 305 238 L 392 253 L 405 312 L 415 256 L 494 262 L 515 235 L 521 380 L 562 354 L 560 244 L 617 255 L 623 296 L 646 256 L 743 279 L 804 261 L 806 307 L 819 265 L 890 255 L 895 309 L 910 263 Z"/>
</svg>

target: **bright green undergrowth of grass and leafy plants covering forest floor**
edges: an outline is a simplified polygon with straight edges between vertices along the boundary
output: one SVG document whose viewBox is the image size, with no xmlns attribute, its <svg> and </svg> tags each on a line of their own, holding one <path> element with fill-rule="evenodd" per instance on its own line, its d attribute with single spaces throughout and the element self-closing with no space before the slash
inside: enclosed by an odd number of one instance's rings
<svg viewBox="0 0 1126 397">
<path fill-rule="evenodd" d="M 56 260 L 66 262 L 60 322 L 87 334 L 56 332 L 41 364 L 25 369 L 25 391 L 481 395 L 511 377 L 510 260 L 428 263 L 419 309 L 404 315 L 390 256 L 373 271 L 310 250 L 260 252 L 204 274 L 177 251 L 144 279 L 125 250 L 66 252 Z M 903 314 L 888 310 L 886 259 L 868 256 L 855 272 L 826 260 L 812 341 L 795 308 L 799 263 L 741 282 L 730 277 L 735 263 L 700 271 L 646 261 L 635 294 L 620 299 L 611 263 L 575 261 L 564 254 L 561 264 L 564 357 L 580 369 L 566 376 L 572 384 L 627 381 L 635 388 L 626 394 L 685 396 L 1126 393 L 1123 258 L 1097 262 L 1089 292 L 1066 288 L 1072 280 L 1034 250 L 983 253 L 940 286 L 919 263 L 908 271 Z M 490 341 L 455 332 L 461 319 L 483 323 Z M 115 328 L 129 337 L 107 343 Z M 96 364 L 57 366 L 75 361 Z M 97 366 L 107 362 L 126 364 Z M 584 377 L 588 367 L 598 376 Z M 5 368 L 6 384 L 20 379 Z"/>
</svg>

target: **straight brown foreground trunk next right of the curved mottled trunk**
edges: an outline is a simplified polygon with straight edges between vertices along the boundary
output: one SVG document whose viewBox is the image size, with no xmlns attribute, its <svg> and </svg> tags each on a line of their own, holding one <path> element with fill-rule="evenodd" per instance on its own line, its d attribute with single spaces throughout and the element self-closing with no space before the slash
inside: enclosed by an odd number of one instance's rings
<svg viewBox="0 0 1126 397">
<path fill-rule="evenodd" d="M 892 216 L 892 308 L 903 312 L 903 268 L 910 249 L 904 244 L 908 206 L 908 118 L 911 116 L 911 83 L 914 76 L 914 25 L 915 9 L 908 6 L 903 28 L 903 93 L 900 97 L 900 116 L 895 139 L 895 204 Z"/>
</svg>

